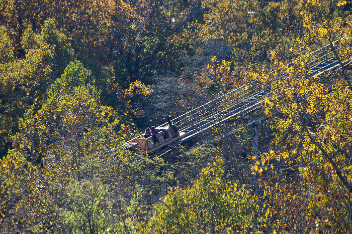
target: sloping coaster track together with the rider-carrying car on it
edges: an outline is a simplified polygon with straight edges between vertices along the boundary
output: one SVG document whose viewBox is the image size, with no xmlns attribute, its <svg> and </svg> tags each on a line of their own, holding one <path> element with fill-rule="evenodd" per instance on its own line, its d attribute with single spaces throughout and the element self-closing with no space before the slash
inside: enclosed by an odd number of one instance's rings
<svg viewBox="0 0 352 234">
<path fill-rule="evenodd" d="M 336 46 L 336 50 L 341 48 L 341 44 Z M 351 63 L 349 59 L 343 62 L 339 61 L 334 53 L 328 50 L 328 46 L 320 48 L 310 56 L 314 56 L 316 59 L 307 64 L 311 71 L 309 76 L 321 75 L 332 69 L 340 70 L 342 69 L 341 64 L 346 69 Z M 279 72 L 278 76 L 283 76 L 283 73 Z M 241 118 L 248 115 L 261 107 L 267 94 L 267 91 L 259 88 L 248 89 L 245 85 L 236 87 L 231 92 L 172 119 L 173 127 L 164 123 L 156 128 L 160 131 L 156 135 L 145 136 L 143 134 L 125 144 L 147 153 L 154 152 L 172 142 L 185 141 L 231 118 Z M 177 126 L 177 129 L 174 126 Z"/>
</svg>

